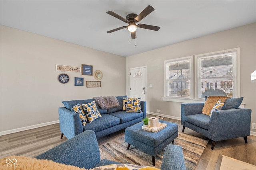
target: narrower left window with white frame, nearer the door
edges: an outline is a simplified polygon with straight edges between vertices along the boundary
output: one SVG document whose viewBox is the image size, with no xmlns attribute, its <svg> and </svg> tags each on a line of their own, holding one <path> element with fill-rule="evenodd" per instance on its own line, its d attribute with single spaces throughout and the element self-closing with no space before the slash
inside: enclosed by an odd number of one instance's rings
<svg viewBox="0 0 256 170">
<path fill-rule="evenodd" d="M 164 61 L 165 96 L 167 98 L 193 97 L 193 56 Z"/>
</svg>

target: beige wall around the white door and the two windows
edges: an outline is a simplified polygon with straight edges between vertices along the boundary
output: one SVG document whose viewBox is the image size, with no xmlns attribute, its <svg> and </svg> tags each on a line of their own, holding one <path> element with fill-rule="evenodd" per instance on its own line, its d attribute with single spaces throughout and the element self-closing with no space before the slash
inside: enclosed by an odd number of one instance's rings
<svg viewBox="0 0 256 170">
<path fill-rule="evenodd" d="M 256 83 L 250 80 L 250 74 L 256 70 L 256 23 L 127 57 L 126 72 L 147 66 L 147 112 L 158 113 L 160 109 L 163 116 L 180 118 L 180 103 L 162 101 L 164 60 L 237 47 L 240 47 L 240 96 L 244 96 L 244 107 L 252 109 L 251 122 L 256 123 Z M 126 93 L 129 94 L 129 74 L 126 74 Z M 252 132 L 256 135 L 256 130 Z"/>
</svg>

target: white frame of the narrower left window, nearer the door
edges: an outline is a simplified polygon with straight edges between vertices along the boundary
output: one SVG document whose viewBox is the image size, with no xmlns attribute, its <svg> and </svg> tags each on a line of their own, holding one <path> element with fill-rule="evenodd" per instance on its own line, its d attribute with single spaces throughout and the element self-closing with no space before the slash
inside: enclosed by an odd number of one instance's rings
<svg viewBox="0 0 256 170">
<path fill-rule="evenodd" d="M 168 78 L 168 64 L 169 63 L 179 63 L 179 62 L 184 62 L 190 60 L 190 97 L 180 97 L 180 96 L 167 96 L 167 92 L 169 91 L 167 88 L 169 86 L 167 85 L 169 78 Z M 192 100 L 194 98 L 194 59 L 193 56 L 188 56 L 188 57 L 182 57 L 178 59 L 170 59 L 170 60 L 165 60 L 164 61 L 164 101 L 170 101 L 170 102 L 176 102 L 179 100 Z M 168 70 L 167 70 L 168 69 Z M 175 84 L 174 84 L 175 86 Z"/>
</svg>

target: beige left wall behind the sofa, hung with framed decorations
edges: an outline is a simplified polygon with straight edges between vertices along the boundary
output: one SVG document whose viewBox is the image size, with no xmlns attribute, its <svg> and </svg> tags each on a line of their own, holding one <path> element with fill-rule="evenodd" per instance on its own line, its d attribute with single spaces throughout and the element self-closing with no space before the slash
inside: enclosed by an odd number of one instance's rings
<svg viewBox="0 0 256 170">
<path fill-rule="evenodd" d="M 86 88 L 94 76 L 56 71 L 55 64 L 93 65 L 103 72 L 102 87 Z M 67 84 L 58 82 L 61 73 Z M 125 57 L 1 25 L 0 131 L 58 121 L 63 100 L 125 95 L 125 74 Z M 83 77 L 84 86 L 74 86 L 74 77 Z"/>
</svg>

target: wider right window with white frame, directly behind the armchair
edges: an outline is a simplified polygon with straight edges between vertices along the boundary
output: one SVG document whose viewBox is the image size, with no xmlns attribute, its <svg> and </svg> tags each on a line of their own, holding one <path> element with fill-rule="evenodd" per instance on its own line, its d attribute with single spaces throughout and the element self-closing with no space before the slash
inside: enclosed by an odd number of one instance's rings
<svg viewBox="0 0 256 170">
<path fill-rule="evenodd" d="M 196 61 L 198 99 L 240 95 L 239 48 L 196 55 Z"/>
</svg>

